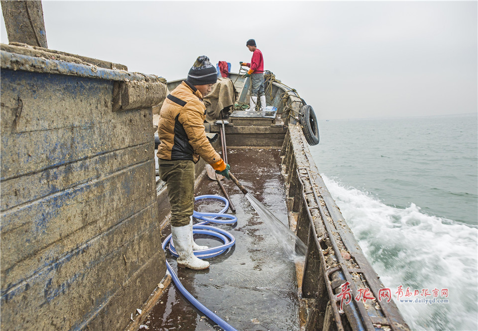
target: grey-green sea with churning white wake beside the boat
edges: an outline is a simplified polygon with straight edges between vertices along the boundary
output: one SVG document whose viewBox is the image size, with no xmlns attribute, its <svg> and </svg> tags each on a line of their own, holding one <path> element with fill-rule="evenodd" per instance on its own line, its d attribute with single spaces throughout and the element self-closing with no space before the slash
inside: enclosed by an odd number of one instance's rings
<svg viewBox="0 0 478 331">
<path fill-rule="evenodd" d="M 478 330 L 477 114 L 319 121 L 310 147 L 412 330 Z M 448 303 L 403 290 L 448 290 Z M 413 296 L 412 299 L 419 299 Z"/>
</svg>

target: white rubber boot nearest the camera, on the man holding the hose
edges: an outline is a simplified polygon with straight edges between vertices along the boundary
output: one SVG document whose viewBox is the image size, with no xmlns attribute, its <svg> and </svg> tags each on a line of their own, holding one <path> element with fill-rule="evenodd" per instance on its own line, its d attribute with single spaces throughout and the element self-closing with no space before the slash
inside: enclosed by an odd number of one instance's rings
<svg viewBox="0 0 478 331">
<path fill-rule="evenodd" d="M 190 229 L 189 224 L 182 227 L 171 226 L 174 248 L 179 255 L 177 259 L 178 266 L 195 270 L 207 269 L 209 268 L 209 262 L 194 256 L 192 246 L 193 238 Z"/>
</svg>

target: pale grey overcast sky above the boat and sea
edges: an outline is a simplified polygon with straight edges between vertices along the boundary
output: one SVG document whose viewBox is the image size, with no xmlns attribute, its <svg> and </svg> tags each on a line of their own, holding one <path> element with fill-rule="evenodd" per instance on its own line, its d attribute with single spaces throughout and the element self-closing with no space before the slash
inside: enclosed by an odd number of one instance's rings
<svg viewBox="0 0 478 331">
<path fill-rule="evenodd" d="M 42 1 L 48 47 L 169 81 L 250 62 L 319 119 L 477 112 L 477 1 Z M 1 17 L 1 42 L 8 39 Z"/>
</svg>

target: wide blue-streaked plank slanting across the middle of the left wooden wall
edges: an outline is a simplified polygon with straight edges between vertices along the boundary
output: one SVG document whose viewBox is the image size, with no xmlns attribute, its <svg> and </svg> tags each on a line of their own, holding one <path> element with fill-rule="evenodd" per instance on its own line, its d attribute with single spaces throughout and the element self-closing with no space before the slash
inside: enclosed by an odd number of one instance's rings
<svg viewBox="0 0 478 331">
<path fill-rule="evenodd" d="M 152 204 L 152 175 L 149 161 L 3 213 L 2 291 Z"/>
</svg>

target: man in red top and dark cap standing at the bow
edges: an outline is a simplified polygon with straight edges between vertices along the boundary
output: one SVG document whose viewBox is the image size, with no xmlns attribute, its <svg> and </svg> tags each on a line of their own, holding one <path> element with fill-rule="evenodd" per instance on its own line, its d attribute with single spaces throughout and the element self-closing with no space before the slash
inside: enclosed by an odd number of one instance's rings
<svg viewBox="0 0 478 331">
<path fill-rule="evenodd" d="M 257 105 L 257 96 L 260 98 L 260 107 L 265 108 L 265 94 L 264 94 L 264 58 L 262 52 L 257 48 L 254 39 L 247 40 L 245 44 L 252 53 L 250 63 L 239 62 L 241 66 L 249 67 L 249 71 L 245 77 L 250 76 L 251 91 L 249 100 L 249 110 L 254 111 Z"/>
</svg>

